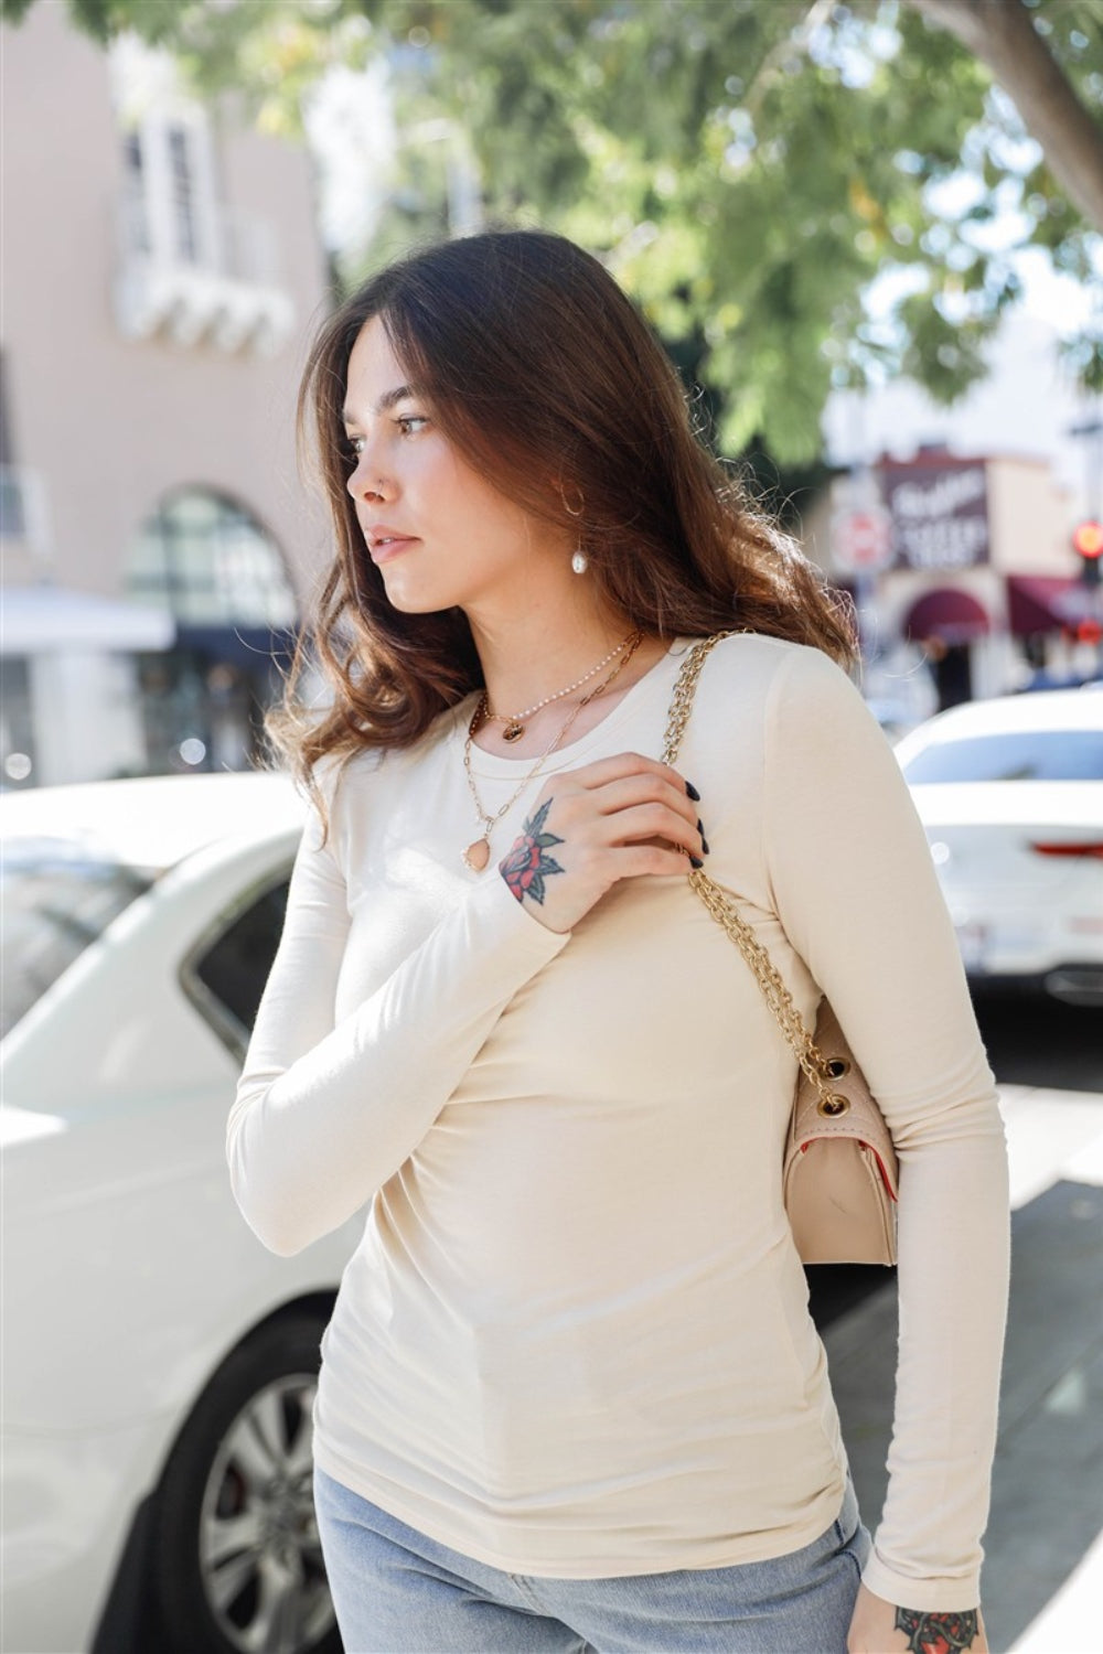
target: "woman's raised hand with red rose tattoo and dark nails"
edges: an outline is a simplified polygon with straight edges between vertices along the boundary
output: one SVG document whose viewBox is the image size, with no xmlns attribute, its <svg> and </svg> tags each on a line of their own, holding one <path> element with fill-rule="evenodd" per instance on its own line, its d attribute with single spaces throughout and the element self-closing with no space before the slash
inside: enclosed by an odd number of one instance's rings
<svg viewBox="0 0 1103 1654">
<path fill-rule="evenodd" d="M 620 878 L 685 873 L 704 845 L 683 777 L 638 753 L 566 769 L 544 787 L 498 863 L 518 901 L 551 931 L 569 931 Z"/>
</svg>

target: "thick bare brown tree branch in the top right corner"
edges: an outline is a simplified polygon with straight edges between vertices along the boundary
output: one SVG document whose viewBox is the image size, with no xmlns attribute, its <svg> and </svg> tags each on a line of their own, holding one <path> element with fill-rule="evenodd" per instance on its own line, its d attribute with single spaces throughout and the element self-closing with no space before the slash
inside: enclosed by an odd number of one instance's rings
<svg viewBox="0 0 1103 1654">
<path fill-rule="evenodd" d="M 1103 232 L 1103 132 L 1037 33 L 1022 0 L 908 0 L 987 63 L 1078 212 Z"/>
</svg>

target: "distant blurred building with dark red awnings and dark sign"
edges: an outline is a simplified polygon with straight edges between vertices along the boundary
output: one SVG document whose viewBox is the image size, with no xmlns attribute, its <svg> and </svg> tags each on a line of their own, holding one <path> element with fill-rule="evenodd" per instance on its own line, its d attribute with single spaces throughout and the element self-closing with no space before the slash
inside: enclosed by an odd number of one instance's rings
<svg viewBox="0 0 1103 1654">
<path fill-rule="evenodd" d="M 1096 672 L 1103 609 L 1075 513 L 1048 460 L 1020 455 L 924 445 L 838 475 L 805 538 L 855 595 L 873 695 L 926 716 Z"/>
</svg>

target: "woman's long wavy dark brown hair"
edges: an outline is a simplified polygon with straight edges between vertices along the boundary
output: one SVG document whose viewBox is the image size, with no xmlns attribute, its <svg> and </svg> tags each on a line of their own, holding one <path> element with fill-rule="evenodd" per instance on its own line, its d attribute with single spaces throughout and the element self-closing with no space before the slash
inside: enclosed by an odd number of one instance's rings
<svg viewBox="0 0 1103 1654">
<path fill-rule="evenodd" d="M 354 293 L 303 375 L 299 442 L 318 461 L 336 557 L 268 733 L 311 791 L 319 759 L 410 746 L 483 686 L 463 612 L 392 609 L 356 519 L 341 410 L 372 318 L 458 453 L 579 538 L 595 594 L 645 633 L 749 627 L 853 662 L 852 612 L 698 438 L 671 362 L 597 258 L 536 230 L 445 241 Z M 334 691 L 321 716 L 299 701 L 311 652 Z"/>
</svg>

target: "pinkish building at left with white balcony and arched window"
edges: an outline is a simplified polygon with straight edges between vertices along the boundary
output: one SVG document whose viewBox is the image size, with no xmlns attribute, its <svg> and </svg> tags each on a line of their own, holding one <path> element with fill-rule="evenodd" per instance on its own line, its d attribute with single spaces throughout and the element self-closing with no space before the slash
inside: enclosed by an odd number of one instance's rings
<svg viewBox="0 0 1103 1654">
<path fill-rule="evenodd" d="M 326 556 L 309 157 L 60 5 L 2 76 L 0 781 L 243 767 Z"/>
</svg>

